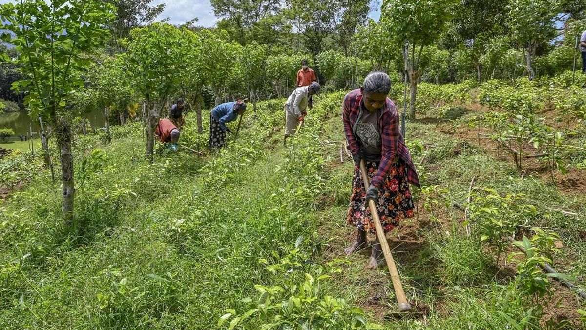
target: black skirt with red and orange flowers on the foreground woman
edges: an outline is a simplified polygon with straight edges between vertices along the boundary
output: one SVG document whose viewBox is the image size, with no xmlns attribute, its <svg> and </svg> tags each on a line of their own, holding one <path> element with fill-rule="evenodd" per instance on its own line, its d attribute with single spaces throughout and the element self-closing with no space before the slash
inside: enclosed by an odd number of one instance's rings
<svg viewBox="0 0 586 330">
<path fill-rule="evenodd" d="M 376 174 L 377 168 L 378 164 L 372 161 L 366 162 L 366 171 L 370 179 Z M 376 233 L 370 207 L 364 202 L 365 197 L 366 191 L 364 191 L 360 169 L 355 166 L 347 221 L 359 229 Z M 413 208 L 413 198 L 411 198 L 407 181 L 407 164 L 403 160 L 395 161 L 389 176 L 379 189 L 377 211 L 384 232 L 388 233 L 397 227 L 401 218 L 413 218 Z"/>
</svg>

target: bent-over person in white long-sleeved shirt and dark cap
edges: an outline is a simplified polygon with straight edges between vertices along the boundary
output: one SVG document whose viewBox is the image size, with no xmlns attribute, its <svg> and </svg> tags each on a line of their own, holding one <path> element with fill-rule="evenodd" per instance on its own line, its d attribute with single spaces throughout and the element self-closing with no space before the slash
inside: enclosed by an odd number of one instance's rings
<svg viewBox="0 0 586 330">
<path fill-rule="evenodd" d="M 285 139 L 283 145 L 287 146 L 287 138 L 297 131 L 297 125 L 307 115 L 309 97 L 319 94 L 319 83 L 312 82 L 309 86 L 297 87 L 285 102 Z"/>
</svg>

